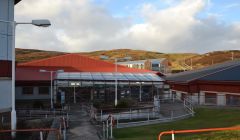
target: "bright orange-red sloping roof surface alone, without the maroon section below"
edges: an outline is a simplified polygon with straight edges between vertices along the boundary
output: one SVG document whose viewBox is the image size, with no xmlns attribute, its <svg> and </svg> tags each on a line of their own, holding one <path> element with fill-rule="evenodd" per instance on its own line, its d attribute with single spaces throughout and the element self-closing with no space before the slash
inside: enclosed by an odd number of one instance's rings
<svg viewBox="0 0 240 140">
<path fill-rule="evenodd" d="M 56 70 L 63 69 L 66 72 L 114 72 L 115 64 L 92 59 L 80 54 L 66 54 L 47 59 L 31 61 L 27 63 L 18 64 L 19 67 L 29 67 L 31 69 L 48 69 Z M 128 68 L 118 65 L 118 72 L 136 72 L 145 73 L 152 72 L 149 70 L 141 70 Z"/>
</svg>

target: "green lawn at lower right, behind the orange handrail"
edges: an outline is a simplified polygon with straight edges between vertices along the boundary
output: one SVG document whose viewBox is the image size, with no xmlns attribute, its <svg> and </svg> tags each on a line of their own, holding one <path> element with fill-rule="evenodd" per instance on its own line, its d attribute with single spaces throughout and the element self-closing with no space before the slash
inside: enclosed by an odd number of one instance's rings
<svg viewBox="0 0 240 140">
<path fill-rule="evenodd" d="M 161 131 L 168 130 L 184 130 L 184 129 L 201 129 L 214 127 L 230 127 L 240 125 L 240 110 L 239 109 L 195 109 L 196 114 L 192 118 L 179 120 L 171 123 L 161 123 L 148 126 L 139 126 L 132 128 L 122 128 L 114 130 L 114 137 L 117 140 L 156 140 L 157 135 Z M 180 139 L 231 139 L 240 137 L 240 132 L 215 132 L 202 133 L 195 135 L 178 135 Z M 236 136 L 237 135 L 237 136 Z M 166 137 L 165 137 L 166 138 Z M 177 136 L 176 136 L 177 138 Z M 233 139 L 232 139 L 233 140 Z"/>
</svg>

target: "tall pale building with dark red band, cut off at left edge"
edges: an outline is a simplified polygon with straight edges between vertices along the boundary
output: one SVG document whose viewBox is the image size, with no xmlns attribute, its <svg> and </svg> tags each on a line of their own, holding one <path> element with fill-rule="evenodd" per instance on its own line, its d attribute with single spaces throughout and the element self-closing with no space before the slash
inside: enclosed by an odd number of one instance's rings
<svg viewBox="0 0 240 140">
<path fill-rule="evenodd" d="M 10 122 L 12 107 L 12 25 L 3 21 L 14 21 L 14 5 L 20 0 L 0 0 L 0 119 Z M 0 128 L 2 126 L 0 122 Z"/>
</svg>

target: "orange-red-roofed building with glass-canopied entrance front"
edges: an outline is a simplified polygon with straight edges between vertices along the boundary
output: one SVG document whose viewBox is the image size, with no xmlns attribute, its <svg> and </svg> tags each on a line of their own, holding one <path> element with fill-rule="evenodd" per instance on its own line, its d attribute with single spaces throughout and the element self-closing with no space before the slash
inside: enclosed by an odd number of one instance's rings
<svg viewBox="0 0 240 140">
<path fill-rule="evenodd" d="M 74 91 L 78 100 L 113 102 L 116 79 L 119 99 L 131 97 L 140 101 L 149 101 L 160 93 L 163 84 L 163 79 L 153 71 L 118 65 L 118 71 L 115 73 L 115 64 L 79 54 L 66 54 L 17 65 L 18 105 L 26 105 L 26 102 L 34 104 L 35 101 L 49 103 L 51 75 L 40 72 L 41 69 L 64 70 L 53 74 L 55 103 L 61 100 L 62 92 L 66 103 L 72 102 Z"/>
</svg>

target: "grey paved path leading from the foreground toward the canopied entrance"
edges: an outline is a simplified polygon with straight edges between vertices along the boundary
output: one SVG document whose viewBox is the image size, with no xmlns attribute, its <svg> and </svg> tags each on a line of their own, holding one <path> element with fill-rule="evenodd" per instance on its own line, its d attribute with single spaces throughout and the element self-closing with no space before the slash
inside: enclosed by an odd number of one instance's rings
<svg viewBox="0 0 240 140">
<path fill-rule="evenodd" d="M 68 140 L 99 140 L 96 128 L 90 123 L 87 112 L 79 106 L 71 106 Z"/>
</svg>

